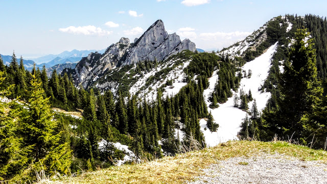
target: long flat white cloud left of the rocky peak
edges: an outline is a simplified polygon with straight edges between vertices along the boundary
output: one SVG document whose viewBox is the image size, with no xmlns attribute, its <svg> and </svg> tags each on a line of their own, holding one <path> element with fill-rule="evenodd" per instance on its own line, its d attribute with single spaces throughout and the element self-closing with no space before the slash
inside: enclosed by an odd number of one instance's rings
<svg viewBox="0 0 327 184">
<path fill-rule="evenodd" d="M 73 34 L 83 34 L 83 35 L 108 35 L 111 32 L 102 30 L 95 26 L 69 26 L 67 28 L 60 28 L 60 32 L 73 33 Z"/>
</svg>

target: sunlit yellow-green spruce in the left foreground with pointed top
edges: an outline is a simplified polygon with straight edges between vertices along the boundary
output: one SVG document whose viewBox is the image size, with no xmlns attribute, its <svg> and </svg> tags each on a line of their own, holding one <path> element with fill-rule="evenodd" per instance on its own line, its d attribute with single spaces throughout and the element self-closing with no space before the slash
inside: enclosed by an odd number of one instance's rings
<svg viewBox="0 0 327 184">
<path fill-rule="evenodd" d="M 32 147 L 29 156 L 36 166 L 42 164 L 47 174 L 53 175 L 55 171 L 67 174 L 71 165 L 71 150 L 68 143 L 59 142 L 61 132 L 55 131 L 58 122 L 53 119 L 54 113 L 49 98 L 43 98 L 42 83 L 36 78 L 35 73 L 31 86 L 30 106 L 27 114 L 21 118 L 24 142 L 26 146 Z"/>
</svg>

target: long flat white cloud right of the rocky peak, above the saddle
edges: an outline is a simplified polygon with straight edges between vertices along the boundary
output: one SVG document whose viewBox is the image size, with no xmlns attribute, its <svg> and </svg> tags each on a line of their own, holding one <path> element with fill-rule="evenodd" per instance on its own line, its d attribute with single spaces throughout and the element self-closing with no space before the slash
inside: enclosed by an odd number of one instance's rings
<svg viewBox="0 0 327 184">
<path fill-rule="evenodd" d="M 216 33 L 201 33 L 200 38 L 203 40 L 221 40 L 221 39 L 239 39 L 244 38 L 248 35 L 250 35 L 250 32 L 230 32 L 230 33 L 224 33 L 224 32 L 216 32 Z"/>
</svg>

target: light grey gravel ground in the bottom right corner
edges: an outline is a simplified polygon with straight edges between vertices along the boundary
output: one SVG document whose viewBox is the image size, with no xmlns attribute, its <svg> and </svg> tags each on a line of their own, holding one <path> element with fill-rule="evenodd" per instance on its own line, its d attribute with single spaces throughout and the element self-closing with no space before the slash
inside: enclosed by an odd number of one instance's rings
<svg viewBox="0 0 327 184">
<path fill-rule="evenodd" d="M 198 183 L 327 183 L 327 165 L 281 154 L 233 157 L 204 169 Z"/>
</svg>

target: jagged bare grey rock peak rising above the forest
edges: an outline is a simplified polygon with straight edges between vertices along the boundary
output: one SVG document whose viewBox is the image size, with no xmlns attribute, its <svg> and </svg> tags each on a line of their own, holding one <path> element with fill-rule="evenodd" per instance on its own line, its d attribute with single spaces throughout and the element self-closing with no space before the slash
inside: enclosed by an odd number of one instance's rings
<svg viewBox="0 0 327 184">
<path fill-rule="evenodd" d="M 162 61 L 183 50 L 195 52 L 195 43 L 189 39 L 181 41 L 176 33 L 168 34 L 164 22 L 157 20 L 141 37 L 135 38 L 134 43 L 130 43 L 128 38 L 121 38 L 119 42 L 111 44 L 102 55 L 90 53 L 82 58 L 72 73 L 75 74 L 75 84 L 86 88 L 92 81 L 101 78 L 106 70 L 115 66 L 144 60 Z"/>
</svg>

